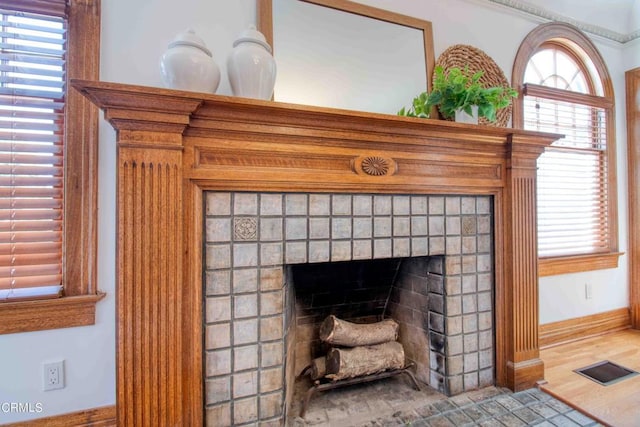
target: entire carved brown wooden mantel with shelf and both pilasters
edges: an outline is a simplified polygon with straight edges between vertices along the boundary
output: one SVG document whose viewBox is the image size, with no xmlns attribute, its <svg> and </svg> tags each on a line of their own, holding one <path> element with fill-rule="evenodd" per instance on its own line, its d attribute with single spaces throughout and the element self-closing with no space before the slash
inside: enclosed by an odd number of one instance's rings
<svg viewBox="0 0 640 427">
<path fill-rule="evenodd" d="M 496 383 L 543 379 L 536 159 L 559 135 L 105 82 L 117 131 L 118 425 L 203 423 L 205 190 L 494 198 Z"/>
</svg>

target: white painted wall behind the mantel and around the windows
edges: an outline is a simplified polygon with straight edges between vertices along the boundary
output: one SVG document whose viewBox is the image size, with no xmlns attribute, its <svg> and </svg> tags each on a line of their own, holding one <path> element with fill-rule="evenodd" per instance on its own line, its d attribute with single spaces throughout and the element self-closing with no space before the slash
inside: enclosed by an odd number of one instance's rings
<svg viewBox="0 0 640 427">
<path fill-rule="evenodd" d="M 475 1 L 360 0 L 371 6 L 414 15 L 433 22 L 435 53 L 464 43 L 491 56 L 510 79 L 513 59 L 523 37 L 537 23 Z M 158 61 L 173 36 L 193 28 L 207 43 L 222 71 L 218 93 L 230 94 L 225 61 L 236 36 L 255 21 L 254 0 L 109 0 L 102 2 L 101 79 L 160 86 Z M 454 13 L 452 13 L 454 12 Z M 619 198 L 622 251 L 626 247 L 626 182 L 623 173 L 625 133 L 624 67 L 640 66 L 640 59 L 623 61 L 622 48 L 596 41 L 613 77 L 617 97 L 619 139 Z M 638 57 L 640 48 L 631 52 Z M 276 58 L 277 59 L 277 58 Z M 38 418 L 115 403 L 115 133 L 100 127 L 99 288 L 108 293 L 98 304 L 95 326 L 0 336 L 0 403 L 43 405 L 40 414 L 6 414 L 0 423 Z M 541 280 L 543 323 L 627 305 L 625 257 L 613 272 L 567 275 Z M 609 274 L 611 273 L 611 274 Z M 594 299 L 580 298 L 580 286 L 591 283 Z M 42 392 L 42 363 L 66 360 L 67 386 Z"/>
</svg>

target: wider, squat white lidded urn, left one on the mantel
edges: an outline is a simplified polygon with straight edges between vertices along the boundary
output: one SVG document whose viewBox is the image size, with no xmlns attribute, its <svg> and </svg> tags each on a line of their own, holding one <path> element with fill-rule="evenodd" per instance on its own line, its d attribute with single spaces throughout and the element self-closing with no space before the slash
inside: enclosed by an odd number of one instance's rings
<svg viewBox="0 0 640 427">
<path fill-rule="evenodd" d="M 171 89 L 215 93 L 220 68 L 204 41 L 189 29 L 178 34 L 160 60 L 165 86 Z"/>
</svg>

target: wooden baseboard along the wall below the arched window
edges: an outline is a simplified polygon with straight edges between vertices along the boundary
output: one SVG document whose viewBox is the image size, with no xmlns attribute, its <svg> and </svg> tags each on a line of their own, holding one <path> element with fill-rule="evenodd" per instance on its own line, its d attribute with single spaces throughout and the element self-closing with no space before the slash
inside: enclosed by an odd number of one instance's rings
<svg viewBox="0 0 640 427">
<path fill-rule="evenodd" d="M 631 327 L 631 313 L 628 308 L 547 323 L 540 325 L 538 329 L 539 346 L 547 348 L 629 327 Z"/>
</svg>

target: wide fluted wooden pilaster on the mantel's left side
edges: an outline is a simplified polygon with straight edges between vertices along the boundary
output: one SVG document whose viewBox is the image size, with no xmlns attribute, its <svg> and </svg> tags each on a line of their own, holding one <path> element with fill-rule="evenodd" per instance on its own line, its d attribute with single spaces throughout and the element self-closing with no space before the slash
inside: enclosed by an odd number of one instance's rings
<svg viewBox="0 0 640 427">
<path fill-rule="evenodd" d="M 182 153 L 118 153 L 119 425 L 184 420 Z M 190 343 L 190 340 L 186 340 Z"/>
</svg>

